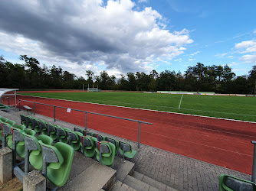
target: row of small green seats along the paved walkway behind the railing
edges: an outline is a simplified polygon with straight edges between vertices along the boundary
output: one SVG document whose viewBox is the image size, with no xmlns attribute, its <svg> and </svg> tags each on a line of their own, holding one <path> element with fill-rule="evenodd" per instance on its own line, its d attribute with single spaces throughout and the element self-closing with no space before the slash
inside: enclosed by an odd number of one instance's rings
<svg viewBox="0 0 256 191">
<path fill-rule="evenodd" d="M 40 134 L 48 134 L 54 141 L 70 144 L 74 151 L 82 151 L 86 157 L 94 157 L 96 155 L 97 160 L 107 166 L 113 164 L 114 157 L 118 151 L 123 156 L 123 159 L 124 157 L 133 158 L 136 154 L 130 144 L 116 141 L 113 138 L 106 138 L 100 134 L 94 134 L 80 128 L 74 128 L 74 131 L 71 131 L 69 128 L 61 128 L 61 126 L 52 125 L 29 115 L 21 115 L 21 123 Z M 99 149 L 100 144 L 103 145 L 101 147 L 102 151 Z"/>
</svg>

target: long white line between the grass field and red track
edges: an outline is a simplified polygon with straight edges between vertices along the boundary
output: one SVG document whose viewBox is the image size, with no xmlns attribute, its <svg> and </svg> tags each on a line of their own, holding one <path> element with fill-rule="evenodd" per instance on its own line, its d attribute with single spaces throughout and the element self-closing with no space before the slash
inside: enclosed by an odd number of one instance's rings
<svg viewBox="0 0 256 191">
<path fill-rule="evenodd" d="M 20 94 L 18 94 L 18 95 L 20 95 Z M 25 95 L 25 96 L 31 96 L 31 97 L 43 98 L 43 99 L 56 99 L 56 98 L 40 97 L 40 96 L 34 96 L 34 95 Z M 57 99 L 57 100 L 69 101 L 69 102 L 80 102 L 80 101 L 74 101 L 74 100 L 68 100 L 68 99 Z M 107 105 L 107 104 L 103 104 L 103 103 L 93 103 L 93 102 L 80 102 L 80 103 L 90 103 L 90 104 L 95 104 L 95 105 L 106 105 L 106 106 L 118 107 L 118 108 L 132 108 L 132 107 L 125 107 L 125 106 L 119 106 L 119 105 Z M 177 114 L 177 115 L 189 115 L 189 116 L 195 116 L 195 117 L 200 117 L 200 118 L 215 118 L 215 119 L 222 119 L 222 120 L 226 120 L 226 121 L 239 121 L 239 122 L 246 122 L 246 123 L 256 124 L 255 121 L 242 121 L 242 120 L 231 119 L 231 118 L 217 118 L 217 117 L 209 117 L 209 116 L 194 115 L 194 114 L 185 114 L 185 113 L 178 113 L 178 112 L 165 112 L 165 111 L 153 110 L 153 109 L 149 109 L 149 108 L 133 108 L 133 109 L 145 110 L 145 111 L 150 111 L 150 112 L 171 113 L 171 114 Z M 227 113 L 225 113 L 225 114 L 227 114 Z M 254 115 L 252 115 L 252 116 L 254 116 Z"/>
</svg>

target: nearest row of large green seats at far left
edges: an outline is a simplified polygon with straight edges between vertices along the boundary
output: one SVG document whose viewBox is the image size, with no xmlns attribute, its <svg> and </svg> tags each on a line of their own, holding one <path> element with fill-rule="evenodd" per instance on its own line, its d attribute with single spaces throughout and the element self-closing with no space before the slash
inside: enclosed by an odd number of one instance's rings
<svg viewBox="0 0 256 191">
<path fill-rule="evenodd" d="M 48 177 L 48 180 L 55 186 L 63 186 L 67 182 L 67 178 L 70 174 L 74 157 L 73 147 L 65 143 L 56 143 L 53 145 L 54 140 L 46 134 L 40 134 L 38 138 L 36 138 L 36 131 L 32 129 L 33 125 L 30 124 L 30 121 L 33 121 L 33 119 L 28 116 L 23 117 L 28 118 L 23 123 L 21 120 L 21 123 L 24 125 L 14 123 L 10 125 L 6 123 L 6 121 L 8 121 L 7 118 L 1 118 L 5 121 L 1 122 L 1 126 L 5 129 L 4 134 L 6 135 L 8 147 L 15 149 L 15 153 L 22 158 L 26 157 L 27 149 L 28 161 L 34 169 L 43 170 L 43 163 L 46 163 L 45 167 L 47 167 L 47 169 L 45 170 L 45 175 Z M 26 128 L 26 126 L 28 128 Z M 14 141 L 16 147 L 13 146 Z M 50 151 L 50 153 L 48 151 Z M 49 160 L 53 158 L 50 157 L 51 154 L 57 156 L 57 159 L 54 161 Z M 28 173 L 28 169 L 25 173 Z"/>
</svg>

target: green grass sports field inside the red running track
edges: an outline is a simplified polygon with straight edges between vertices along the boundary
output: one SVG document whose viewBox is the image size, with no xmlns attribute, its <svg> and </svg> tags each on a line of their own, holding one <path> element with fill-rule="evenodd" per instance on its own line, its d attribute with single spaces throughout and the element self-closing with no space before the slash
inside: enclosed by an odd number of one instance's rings
<svg viewBox="0 0 256 191">
<path fill-rule="evenodd" d="M 33 92 L 21 93 L 55 99 L 147 108 L 243 121 L 256 121 L 256 98 L 218 95 L 171 95 L 140 92 Z M 182 103 L 179 108 L 179 102 Z"/>
</svg>

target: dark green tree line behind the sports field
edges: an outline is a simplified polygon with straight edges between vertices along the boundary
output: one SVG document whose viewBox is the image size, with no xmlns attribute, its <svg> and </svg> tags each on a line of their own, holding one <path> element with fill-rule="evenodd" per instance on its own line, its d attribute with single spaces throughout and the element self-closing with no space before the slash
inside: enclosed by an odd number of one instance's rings
<svg viewBox="0 0 256 191">
<path fill-rule="evenodd" d="M 248 75 L 235 76 L 228 65 L 205 66 L 196 63 L 189 66 L 185 73 L 165 70 L 157 73 L 152 70 L 146 73 L 126 73 L 120 79 L 101 71 L 95 75 L 91 70 L 86 71 L 87 79 L 62 70 L 61 66 L 48 68 L 34 57 L 21 55 L 24 64 L 10 63 L 0 57 L 0 86 L 18 89 L 86 89 L 98 86 L 103 90 L 125 91 L 196 91 L 218 93 L 256 94 L 256 66 Z"/>
</svg>

